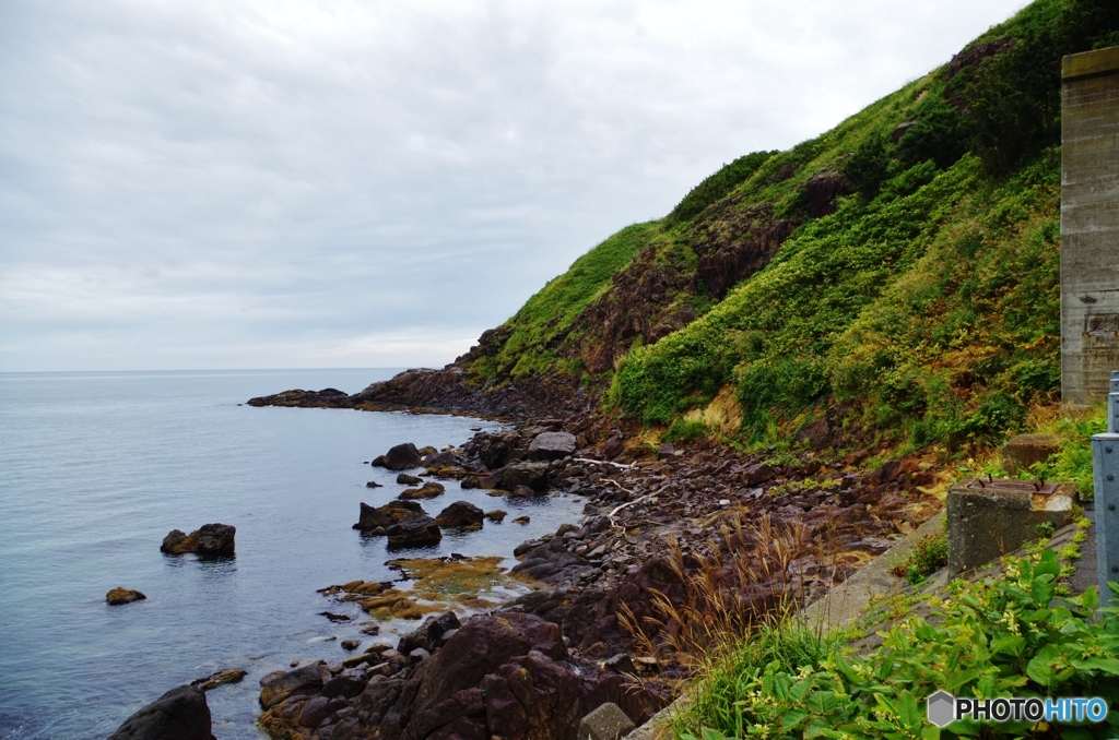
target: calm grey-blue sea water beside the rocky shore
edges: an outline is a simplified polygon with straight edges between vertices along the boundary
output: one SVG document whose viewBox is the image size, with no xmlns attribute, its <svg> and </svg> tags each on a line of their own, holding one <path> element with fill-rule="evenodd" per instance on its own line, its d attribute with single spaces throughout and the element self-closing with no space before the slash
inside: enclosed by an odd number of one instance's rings
<svg viewBox="0 0 1119 740">
<path fill-rule="evenodd" d="M 316 592 L 394 577 L 384 539 L 350 529 L 358 502 L 403 488 L 364 464 L 401 442 L 461 444 L 449 416 L 252 408 L 289 388 L 355 392 L 387 370 L 0 373 L 0 738 L 105 738 L 164 691 L 215 671 L 248 671 L 209 693 L 219 740 L 260 738 L 257 681 L 294 658 L 339 661 L 357 616 Z M 383 488 L 365 483 L 377 480 Z M 450 483 L 425 502 L 467 500 L 510 512 L 450 534 L 425 556 L 511 556 L 575 521 L 565 497 L 497 502 Z M 520 511 L 520 510 L 527 511 Z M 528 513 L 532 523 L 511 523 Z M 237 528 L 227 561 L 164 557 L 171 529 Z M 416 551 L 406 554 L 414 554 Z M 147 601 L 110 607 L 115 586 Z M 327 638 L 337 637 L 330 642 Z"/>
</svg>

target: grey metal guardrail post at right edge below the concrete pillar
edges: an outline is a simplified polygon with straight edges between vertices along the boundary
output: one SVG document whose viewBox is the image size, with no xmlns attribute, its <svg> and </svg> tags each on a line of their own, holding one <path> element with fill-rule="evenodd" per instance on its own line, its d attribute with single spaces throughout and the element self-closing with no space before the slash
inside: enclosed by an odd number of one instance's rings
<svg viewBox="0 0 1119 740">
<path fill-rule="evenodd" d="M 1100 603 L 1106 605 L 1111 597 L 1108 581 L 1119 581 L 1119 371 L 1116 370 L 1111 371 L 1108 393 L 1108 431 L 1092 436 L 1092 478 Z"/>
</svg>

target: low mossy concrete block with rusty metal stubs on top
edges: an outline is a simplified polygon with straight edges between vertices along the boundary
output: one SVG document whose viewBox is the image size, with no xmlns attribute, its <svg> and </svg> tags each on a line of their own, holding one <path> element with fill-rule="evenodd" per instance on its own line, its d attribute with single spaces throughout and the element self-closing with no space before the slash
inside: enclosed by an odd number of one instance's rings
<svg viewBox="0 0 1119 740">
<path fill-rule="evenodd" d="M 948 492 L 948 570 L 985 566 L 1037 539 L 1037 525 L 1072 522 L 1071 483 L 970 478 Z"/>
</svg>

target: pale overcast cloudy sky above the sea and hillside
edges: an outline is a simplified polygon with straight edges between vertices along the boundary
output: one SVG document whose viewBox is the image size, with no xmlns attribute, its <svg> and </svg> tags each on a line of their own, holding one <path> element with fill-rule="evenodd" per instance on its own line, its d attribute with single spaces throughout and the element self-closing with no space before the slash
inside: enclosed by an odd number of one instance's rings
<svg viewBox="0 0 1119 740">
<path fill-rule="evenodd" d="M 0 371 L 442 367 L 1023 0 L 0 0 Z"/>
</svg>

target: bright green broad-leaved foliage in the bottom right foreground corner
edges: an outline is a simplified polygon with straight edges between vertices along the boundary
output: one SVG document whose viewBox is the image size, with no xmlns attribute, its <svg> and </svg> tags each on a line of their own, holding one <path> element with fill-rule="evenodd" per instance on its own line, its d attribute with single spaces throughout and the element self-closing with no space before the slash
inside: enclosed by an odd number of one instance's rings
<svg viewBox="0 0 1119 740">
<path fill-rule="evenodd" d="M 957 581 L 933 601 L 932 619 L 911 617 L 883 633 L 867 655 L 833 648 L 786 656 L 741 653 L 698 684 L 697 701 L 677 720 L 697 738 L 1021 738 L 1029 722 L 925 721 L 923 700 L 956 696 L 1101 696 L 1119 701 L 1119 609 L 1101 609 L 1096 587 L 1057 596 L 1061 567 L 1052 551 L 1012 560 L 1005 575 Z M 1116 595 L 1119 586 L 1110 585 Z M 796 635 L 790 632 L 790 635 Z M 775 657 L 770 657 L 775 655 Z M 1070 740 L 1113 738 L 1119 713 L 1102 724 L 1060 723 Z"/>
</svg>

